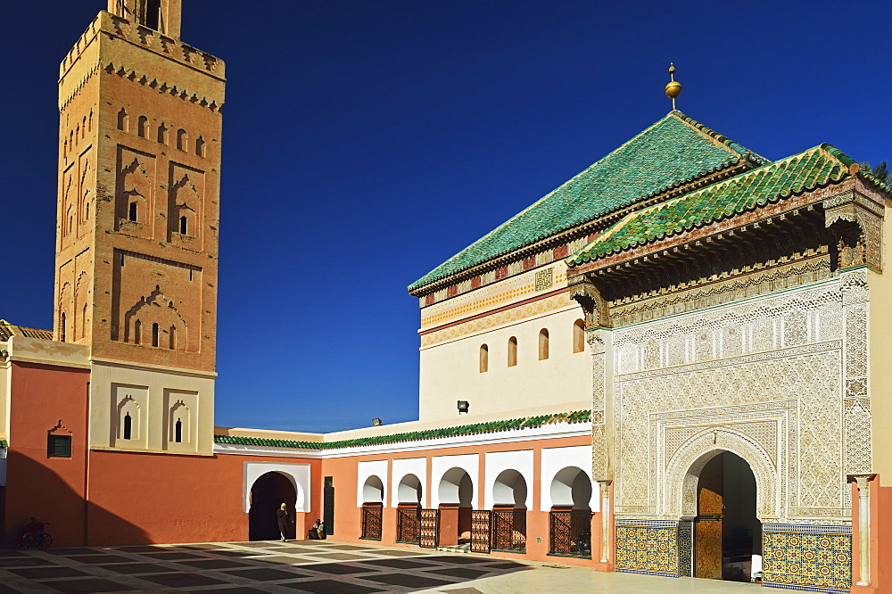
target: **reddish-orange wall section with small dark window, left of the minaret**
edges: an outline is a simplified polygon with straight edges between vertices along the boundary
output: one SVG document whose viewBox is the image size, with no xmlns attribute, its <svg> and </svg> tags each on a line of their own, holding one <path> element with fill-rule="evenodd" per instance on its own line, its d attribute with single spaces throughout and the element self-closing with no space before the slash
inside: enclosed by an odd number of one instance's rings
<svg viewBox="0 0 892 594">
<path fill-rule="evenodd" d="M 54 545 L 83 541 L 89 379 L 86 369 L 12 362 L 4 542 L 30 516 L 51 523 Z M 60 423 L 55 433 L 70 434 L 71 458 L 48 458 L 47 434 Z"/>
</svg>

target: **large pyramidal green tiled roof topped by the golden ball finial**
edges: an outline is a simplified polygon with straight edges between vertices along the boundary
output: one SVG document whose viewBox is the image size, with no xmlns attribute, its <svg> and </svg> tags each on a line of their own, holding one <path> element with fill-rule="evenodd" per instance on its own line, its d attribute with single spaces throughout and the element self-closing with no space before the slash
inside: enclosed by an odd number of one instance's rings
<svg viewBox="0 0 892 594">
<path fill-rule="evenodd" d="M 681 111 L 672 111 L 419 278 L 409 285 L 409 291 L 724 169 L 745 157 L 756 164 L 769 162 Z"/>
</svg>

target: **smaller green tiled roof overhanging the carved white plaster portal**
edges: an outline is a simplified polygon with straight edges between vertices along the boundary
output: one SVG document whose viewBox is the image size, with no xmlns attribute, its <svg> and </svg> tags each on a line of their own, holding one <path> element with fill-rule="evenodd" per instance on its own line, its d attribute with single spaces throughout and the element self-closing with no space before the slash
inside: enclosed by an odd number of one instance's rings
<svg viewBox="0 0 892 594">
<path fill-rule="evenodd" d="M 567 258 L 574 267 L 637 245 L 690 231 L 792 194 L 838 182 L 849 175 L 851 158 L 830 144 L 706 186 L 618 221 Z"/>
</svg>

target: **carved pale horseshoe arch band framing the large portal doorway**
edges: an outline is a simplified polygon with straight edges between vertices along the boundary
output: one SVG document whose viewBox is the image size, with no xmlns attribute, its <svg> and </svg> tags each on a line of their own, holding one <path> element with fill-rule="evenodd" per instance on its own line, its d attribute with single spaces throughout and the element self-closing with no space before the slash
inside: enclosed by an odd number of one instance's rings
<svg viewBox="0 0 892 594">
<path fill-rule="evenodd" d="M 666 465 L 665 500 L 667 516 L 697 516 L 697 486 L 706 463 L 723 451 L 743 458 L 756 476 L 756 515 L 759 519 L 781 517 L 780 473 L 771 456 L 743 433 L 727 428 L 706 428 L 685 441 Z"/>
</svg>

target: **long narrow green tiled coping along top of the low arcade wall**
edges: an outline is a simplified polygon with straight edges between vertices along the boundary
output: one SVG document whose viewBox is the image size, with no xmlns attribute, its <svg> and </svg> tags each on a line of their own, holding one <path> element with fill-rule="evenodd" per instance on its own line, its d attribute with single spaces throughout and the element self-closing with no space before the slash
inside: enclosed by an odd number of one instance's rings
<svg viewBox="0 0 892 594">
<path fill-rule="evenodd" d="M 442 437 L 475 435 L 478 433 L 499 433 L 501 431 L 511 431 L 512 429 L 534 429 L 536 427 L 541 427 L 542 425 L 553 423 L 585 423 L 589 420 L 591 420 L 591 410 L 576 410 L 574 412 L 557 413 L 554 415 L 513 418 L 506 421 L 490 421 L 488 423 L 475 423 L 474 425 L 443 427 L 442 429 L 428 429 L 425 431 L 412 431 L 409 433 L 393 433 L 391 435 L 375 435 L 372 437 L 359 437 L 352 440 L 341 441 L 268 440 L 256 437 L 238 437 L 235 435 L 214 435 L 214 441 L 217 443 L 274 446 L 278 448 L 297 448 L 301 450 L 335 450 L 337 448 L 359 448 L 360 446 L 398 443 L 400 441 L 423 441 L 435 440 Z"/>
</svg>

